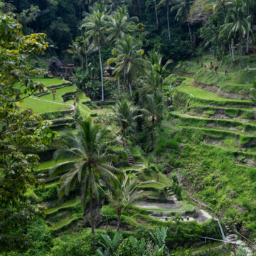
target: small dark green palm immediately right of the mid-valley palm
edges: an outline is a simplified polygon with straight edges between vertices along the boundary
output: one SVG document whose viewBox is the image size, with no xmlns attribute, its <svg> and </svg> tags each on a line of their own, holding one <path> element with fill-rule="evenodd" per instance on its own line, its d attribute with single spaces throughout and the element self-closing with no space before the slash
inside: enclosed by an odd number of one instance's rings
<svg viewBox="0 0 256 256">
<path fill-rule="evenodd" d="M 161 92 L 157 91 L 156 95 L 146 95 L 149 103 L 147 109 L 152 117 L 152 124 L 156 122 L 158 126 L 161 125 L 161 119 L 164 111 L 164 96 Z"/>
</svg>

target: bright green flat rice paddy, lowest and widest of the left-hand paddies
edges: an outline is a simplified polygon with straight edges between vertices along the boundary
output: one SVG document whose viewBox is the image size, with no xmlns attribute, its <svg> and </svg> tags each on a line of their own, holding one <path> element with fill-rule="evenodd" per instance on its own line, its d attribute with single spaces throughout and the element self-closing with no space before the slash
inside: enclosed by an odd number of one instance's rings
<svg viewBox="0 0 256 256">
<path fill-rule="evenodd" d="M 32 109 L 36 114 L 43 114 L 46 112 L 53 112 L 59 110 L 70 110 L 72 105 L 69 104 L 58 104 L 55 102 L 46 102 L 38 97 L 28 97 L 21 103 L 21 107 Z"/>
</svg>

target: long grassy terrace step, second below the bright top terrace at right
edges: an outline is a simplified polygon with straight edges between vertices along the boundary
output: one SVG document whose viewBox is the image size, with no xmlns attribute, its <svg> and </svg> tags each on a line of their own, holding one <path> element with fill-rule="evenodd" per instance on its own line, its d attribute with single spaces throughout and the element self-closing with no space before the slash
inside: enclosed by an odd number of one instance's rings
<svg viewBox="0 0 256 256">
<path fill-rule="evenodd" d="M 207 127 L 209 125 L 218 128 L 235 128 L 237 131 L 242 131 L 254 134 L 256 132 L 256 123 L 240 122 L 232 119 L 213 119 L 205 117 L 196 117 L 189 114 L 183 114 L 178 111 L 170 112 L 169 116 L 178 117 L 183 123 L 191 126 Z"/>
</svg>

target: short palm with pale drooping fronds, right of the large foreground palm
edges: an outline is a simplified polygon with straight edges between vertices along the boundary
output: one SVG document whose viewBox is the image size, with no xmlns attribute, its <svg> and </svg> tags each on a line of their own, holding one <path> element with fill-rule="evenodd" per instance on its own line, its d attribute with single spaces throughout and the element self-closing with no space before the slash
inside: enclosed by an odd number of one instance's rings
<svg viewBox="0 0 256 256">
<path fill-rule="evenodd" d="M 113 189 L 108 189 L 105 194 L 114 209 L 117 211 L 116 231 L 118 231 L 122 211 L 127 208 L 127 206 L 130 206 L 132 203 L 139 200 L 139 198 L 142 198 L 144 193 L 137 190 L 138 181 L 131 178 L 129 175 L 125 175 L 124 177 L 121 176 L 118 179 L 113 179 L 110 181 L 110 183 Z"/>
</svg>

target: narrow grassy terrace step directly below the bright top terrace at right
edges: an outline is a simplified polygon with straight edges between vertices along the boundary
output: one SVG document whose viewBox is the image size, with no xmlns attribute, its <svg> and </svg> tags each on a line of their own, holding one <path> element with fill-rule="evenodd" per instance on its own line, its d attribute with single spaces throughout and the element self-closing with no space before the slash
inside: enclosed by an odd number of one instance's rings
<svg viewBox="0 0 256 256">
<path fill-rule="evenodd" d="M 189 112 L 195 112 L 198 114 L 204 114 L 206 116 L 212 116 L 214 114 L 218 114 L 218 112 L 222 112 L 226 117 L 230 118 L 240 118 L 240 119 L 248 119 L 255 122 L 255 111 L 256 108 L 236 108 L 236 107 L 215 107 L 215 106 L 191 106 L 188 107 L 187 110 Z"/>
</svg>

